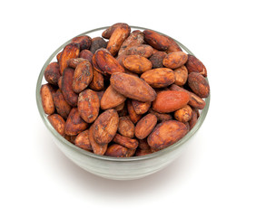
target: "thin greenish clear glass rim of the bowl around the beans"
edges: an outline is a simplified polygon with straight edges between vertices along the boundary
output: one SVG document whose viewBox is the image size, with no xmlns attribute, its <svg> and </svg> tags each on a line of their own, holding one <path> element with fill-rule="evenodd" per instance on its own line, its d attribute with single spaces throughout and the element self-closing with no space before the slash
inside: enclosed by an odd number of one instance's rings
<svg viewBox="0 0 256 217">
<path fill-rule="evenodd" d="M 110 26 L 103 26 L 103 27 L 99 27 L 99 28 L 95 28 L 93 30 L 90 31 L 86 31 L 84 33 L 80 33 L 74 37 L 78 37 L 78 36 L 82 36 L 85 34 L 89 34 L 89 33 L 94 33 L 97 31 L 101 31 L 101 30 L 105 30 L 106 28 L 108 28 Z M 145 28 L 145 27 L 140 27 L 140 26 L 134 26 L 134 25 L 130 25 L 130 27 L 132 29 L 137 29 L 137 30 L 152 30 L 150 28 Z M 155 30 L 153 30 L 155 31 Z M 157 32 L 157 31 L 155 31 Z M 160 32 L 157 32 L 160 33 Z M 168 36 L 164 33 L 161 33 L 162 35 Z M 73 38 L 74 38 L 73 37 Z M 72 38 L 72 39 L 73 39 Z M 172 37 L 171 37 L 172 38 Z M 59 48 L 57 48 L 52 55 L 44 62 L 44 66 L 42 67 L 40 74 L 38 76 L 37 79 L 37 83 L 36 83 L 36 89 L 35 89 L 35 98 L 36 98 L 36 104 L 37 104 L 37 109 L 39 111 L 39 114 L 41 116 L 41 118 L 43 119 L 44 125 L 48 128 L 48 130 L 51 132 L 51 134 L 57 138 L 62 144 L 64 144 L 65 146 L 71 147 L 74 150 L 78 151 L 79 153 L 81 153 L 84 156 L 88 156 L 88 157 L 93 157 L 93 158 L 97 158 L 100 160 L 106 160 L 106 161 L 116 161 L 116 162 L 132 162 L 132 161 L 142 161 L 142 160 L 147 160 L 147 159 L 152 159 L 154 157 L 158 157 L 158 156 L 162 156 L 165 154 L 168 154 L 169 152 L 172 152 L 172 150 L 178 148 L 179 146 L 182 146 L 182 144 L 184 144 L 188 139 L 190 139 L 197 131 L 198 129 L 202 126 L 202 123 L 204 121 L 204 119 L 207 116 L 208 110 L 209 110 L 209 106 L 210 106 L 210 99 L 211 99 L 211 93 L 209 95 L 208 98 L 205 99 L 205 107 L 204 109 L 202 109 L 201 111 L 201 115 L 198 118 L 196 124 L 194 127 L 192 127 L 192 129 L 184 136 L 182 137 L 182 139 L 180 139 L 179 141 L 177 141 L 176 143 L 174 143 L 172 146 L 168 146 L 163 148 L 160 151 L 154 152 L 152 154 L 149 155 L 145 155 L 145 156 L 130 156 L 130 157 L 113 157 L 113 156 L 99 156 L 99 155 L 95 155 L 94 153 L 85 151 L 84 149 L 75 146 L 74 144 L 72 144 L 71 142 L 69 142 L 68 140 L 66 140 L 64 137 L 62 137 L 55 129 L 54 127 L 51 125 L 51 123 L 49 122 L 47 115 L 44 113 L 44 109 L 43 109 L 43 105 L 42 105 L 42 100 L 41 100 L 41 95 L 40 95 L 40 90 L 41 90 L 41 85 L 42 85 L 42 81 L 44 79 L 44 70 L 47 67 L 47 65 L 54 60 L 54 57 L 56 56 L 56 54 L 58 52 L 60 52 L 65 45 L 67 45 L 68 43 L 71 42 L 71 40 L 68 40 L 67 42 L 64 42 L 64 44 L 62 44 Z M 173 39 L 173 38 L 172 38 Z M 181 42 L 178 42 L 177 40 L 173 39 L 175 42 L 177 42 L 181 47 L 182 50 L 184 50 L 185 52 L 194 55 L 187 47 L 185 47 Z M 206 78 L 206 80 L 209 82 L 208 78 Z"/>
</svg>

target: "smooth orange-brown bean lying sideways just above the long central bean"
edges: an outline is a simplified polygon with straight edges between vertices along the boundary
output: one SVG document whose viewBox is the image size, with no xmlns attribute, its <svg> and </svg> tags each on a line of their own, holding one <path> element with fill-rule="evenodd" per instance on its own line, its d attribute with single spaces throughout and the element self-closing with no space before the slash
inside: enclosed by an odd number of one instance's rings
<svg viewBox="0 0 256 217">
<path fill-rule="evenodd" d="M 135 73 L 143 73 L 152 69 L 153 64 L 147 58 L 140 55 L 128 55 L 123 58 L 123 66 Z M 122 72 L 122 71 L 120 71 Z"/>
</svg>

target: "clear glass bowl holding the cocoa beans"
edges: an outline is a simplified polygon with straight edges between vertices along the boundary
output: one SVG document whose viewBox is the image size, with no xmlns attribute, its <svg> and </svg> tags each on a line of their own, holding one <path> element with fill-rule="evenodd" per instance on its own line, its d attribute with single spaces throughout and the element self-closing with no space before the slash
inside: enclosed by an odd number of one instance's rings
<svg viewBox="0 0 256 217">
<path fill-rule="evenodd" d="M 101 36 L 103 30 L 108 28 L 108 26 L 97 28 L 80 35 L 89 35 L 91 37 Z M 132 30 L 145 30 L 148 28 L 131 26 Z M 176 41 L 176 40 L 175 40 Z M 64 155 L 71 159 L 74 164 L 79 165 L 84 170 L 94 174 L 99 175 L 104 178 L 113 180 L 132 180 L 142 178 L 146 175 L 151 175 L 157 171 L 160 171 L 166 165 L 170 165 L 173 160 L 180 156 L 183 150 L 188 144 L 188 140 L 197 132 L 197 130 L 202 126 L 202 123 L 207 115 L 210 96 L 205 99 L 205 108 L 201 111 L 201 116 L 198 119 L 196 125 L 188 132 L 185 137 L 182 137 L 177 143 L 164 148 L 158 152 L 147 156 L 132 156 L 132 157 L 111 157 L 111 156 L 97 156 L 94 153 L 87 152 L 74 144 L 70 143 L 64 137 L 60 136 L 52 127 L 44 114 L 44 109 L 42 107 L 42 101 L 40 96 L 41 85 L 46 81 L 44 80 L 44 70 L 51 61 L 56 61 L 56 54 L 61 52 L 66 44 L 71 42 L 71 40 L 65 42 L 60 46 L 49 58 L 45 61 L 44 66 L 39 74 L 37 85 L 36 85 L 36 102 L 41 118 L 43 119 L 44 125 L 51 132 L 54 143 L 56 146 L 63 151 Z M 177 41 L 176 41 L 177 42 Z M 181 42 L 177 42 L 184 52 L 193 53 L 187 49 Z"/>
</svg>

